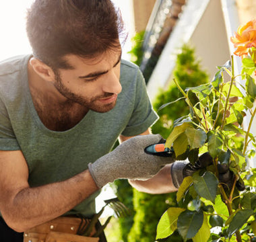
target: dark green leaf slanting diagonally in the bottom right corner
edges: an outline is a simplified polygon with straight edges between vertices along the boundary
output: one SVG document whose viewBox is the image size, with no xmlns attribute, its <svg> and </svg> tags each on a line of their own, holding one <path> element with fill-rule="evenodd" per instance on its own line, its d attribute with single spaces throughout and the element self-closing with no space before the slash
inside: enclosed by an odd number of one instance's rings
<svg viewBox="0 0 256 242">
<path fill-rule="evenodd" d="M 238 229 L 247 223 L 248 218 L 253 214 L 253 210 L 250 209 L 238 211 L 227 229 L 228 237 L 230 238 Z"/>
</svg>

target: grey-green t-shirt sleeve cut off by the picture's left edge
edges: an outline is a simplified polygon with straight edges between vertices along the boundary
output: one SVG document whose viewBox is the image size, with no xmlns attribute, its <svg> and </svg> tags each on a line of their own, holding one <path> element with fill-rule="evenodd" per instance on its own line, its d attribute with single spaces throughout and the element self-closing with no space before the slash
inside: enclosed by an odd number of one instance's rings
<svg viewBox="0 0 256 242">
<path fill-rule="evenodd" d="M 11 127 L 11 122 L 9 120 L 9 115 L 0 98 L 0 150 L 1 151 L 18 151 L 20 146 L 13 128 Z"/>
</svg>

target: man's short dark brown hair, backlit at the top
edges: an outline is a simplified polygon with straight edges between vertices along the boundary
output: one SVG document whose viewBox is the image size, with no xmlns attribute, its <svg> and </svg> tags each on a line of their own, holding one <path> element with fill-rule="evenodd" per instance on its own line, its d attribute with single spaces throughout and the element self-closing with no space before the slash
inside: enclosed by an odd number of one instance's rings
<svg viewBox="0 0 256 242">
<path fill-rule="evenodd" d="M 90 58 L 119 47 L 120 12 L 110 0 L 35 0 L 27 15 L 33 54 L 53 69 L 70 69 L 63 56 Z"/>
</svg>

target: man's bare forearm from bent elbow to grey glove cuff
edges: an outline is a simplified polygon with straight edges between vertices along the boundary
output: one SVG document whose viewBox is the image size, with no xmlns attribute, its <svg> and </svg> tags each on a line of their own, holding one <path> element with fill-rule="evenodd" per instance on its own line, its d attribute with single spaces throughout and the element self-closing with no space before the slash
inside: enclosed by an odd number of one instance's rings
<svg viewBox="0 0 256 242">
<path fill-rule="evenodd" d="M 1 213 L 12 229 L 23 232 L 61 216 L 96 190 L 98 187 L 86 170 L 63 182 L 23 188 Z"/>
</svg>

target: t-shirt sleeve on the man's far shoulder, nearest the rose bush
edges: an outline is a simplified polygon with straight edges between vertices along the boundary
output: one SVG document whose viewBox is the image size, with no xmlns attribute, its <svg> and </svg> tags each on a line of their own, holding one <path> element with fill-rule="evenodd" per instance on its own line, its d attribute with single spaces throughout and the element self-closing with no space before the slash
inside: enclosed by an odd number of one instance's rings
<svg viewBox="0 0 256 242">
<path fill-rule="evenodd" d="M 146 131 L 156 120 L 158 115 L 152 108 L 150 98 L 148 97 L 148 91 L 146 89 L 146 83 L 141 71 L 137 70 L 136 75 L 136 91 L 135 91 L 135 106 L 133 114 L 127 124 L 122 135 L 135 136 Z"/>
</svg>

